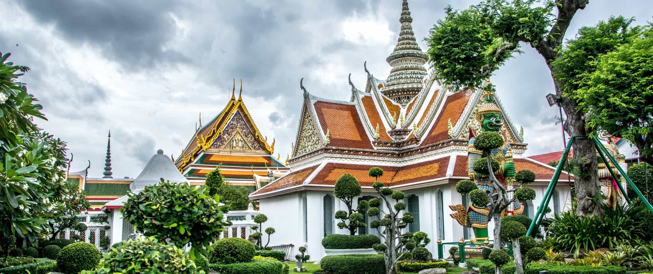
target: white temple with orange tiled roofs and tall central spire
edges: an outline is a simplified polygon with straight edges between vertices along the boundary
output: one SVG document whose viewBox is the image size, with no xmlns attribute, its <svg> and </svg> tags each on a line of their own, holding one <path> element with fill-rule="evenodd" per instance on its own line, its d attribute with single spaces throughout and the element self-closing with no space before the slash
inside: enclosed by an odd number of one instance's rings
<svg viewBox="0 0 653 274">
<path fill-rule="evenodd" d="M 325 256 L 324 236 L 349 234 L 338 229 L 334 220 L 336 211 L 346 210 L 334 197 L 336 180 L 343 174 L 354 175 L 363 191 L 357 200 L 369 200 L 378 196 L 372 189 L 374 178 L 368 176 L 375 166 L 384 171 L 379 181 L 406 192 L 406 210 L 415 217 L 407 230 L 430 236 L 427 248 L 434 258 L 438 239 L 471 240 L 471 228 L 450 217 L 456 211 L 449 206 L 469 204 L 456 192 L 455 183 L 473 172 L 471 163 L 480 157 L 471 153 L 471 142 L 486 127 L 502 134 L 503 160 L 514 162 L 517 171 L 535 172 L 531 187 L 537 198 L 513 212 L 534 216 L 534 205 L 541 202 L 554 167 L 522 156 L 528 146 L 523 130 L 513 125 L 498 94 L 483 88 L 453 90 L 439 84 L 434 72 L 424 67 L 426 56 L 417 44 L 412 21 L 404 0 L 397 44 L 386 59 L 392 67 L 389 76 L 376 78 L 364 65 L 364 88 L 358 89 L 350 78 L 349 100 L 316 97 L 311 95 L 310 85 L 300 81 L 304 103 L 288 161 L 291 172 L 250 194 L 250 199 L 260 201 L 261 213 L 268 216 L 264 226 L 278 232 L 270 245 L 293 244 L 295 249 L 306 245 L 311 259 Z M 558 210 L 571 204 L 569 187 L 562 183 L 568 177 L 566 173 L 560 176 L 560 187 L 550 202 L 558 205 Z M 376 217 L 366 216 L 364 222 L 369 226 L 372 218 Z M 490 221 L 485 227 L 491 231 L 494 224 Z M 365 227 L 358 234 L 378 233 Z"/>
</svg>

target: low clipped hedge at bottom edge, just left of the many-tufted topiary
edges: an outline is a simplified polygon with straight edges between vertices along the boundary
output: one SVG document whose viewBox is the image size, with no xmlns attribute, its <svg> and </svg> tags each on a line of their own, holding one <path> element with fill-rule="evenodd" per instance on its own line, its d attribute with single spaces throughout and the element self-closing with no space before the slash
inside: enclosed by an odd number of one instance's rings
<svg viewBox="0 0 653 274">
<path fill-rule="evenodd" d="M 320 266 L 329 274 L 383 274 L 385 261 L 379 254 L 347 254 L 325 256 Z"/>
</svg>

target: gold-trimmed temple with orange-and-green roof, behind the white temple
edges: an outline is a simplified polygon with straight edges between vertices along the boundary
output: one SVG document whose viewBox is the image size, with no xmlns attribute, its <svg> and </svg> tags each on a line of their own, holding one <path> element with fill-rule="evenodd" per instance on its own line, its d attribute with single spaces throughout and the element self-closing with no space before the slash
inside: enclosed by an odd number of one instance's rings
<svg viewBox="0 0 653 274">
<path fill-rule="evenodd" d="M 235 91 L 234 82 L 227 106 L 205 125 L 200 120 L 200 127 L 174 161 L 193 185 L 203 185 L 206 174 L 221 165 L 221 174 L 229 183 L 253 192 L 289 170 L 280 155 L 273 155 L 276 140 L 268 144 L 249 115 L 241 96 L 242 82 L 238 99 Z"/>
</svg>

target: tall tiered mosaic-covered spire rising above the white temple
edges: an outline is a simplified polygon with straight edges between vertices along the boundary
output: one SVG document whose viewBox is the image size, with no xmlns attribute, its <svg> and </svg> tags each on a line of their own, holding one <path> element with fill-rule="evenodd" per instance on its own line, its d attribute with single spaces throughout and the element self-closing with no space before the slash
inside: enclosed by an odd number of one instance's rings
<svg viewBox="0 0 653 274">
<path fill-rule="evenodd" d="M 397 45 L 385 59 L 392 66 L 392 70 L 381 92 L 395 102 L 406 105 L 422 89 L 422 79 L 426 76 L 426 55 L 415 39 L 411 26 L 413 18 L 410 16 L 407 0 L 403 0 L 399 22 L 402 23 L 402 29 Z"/>
</svg>

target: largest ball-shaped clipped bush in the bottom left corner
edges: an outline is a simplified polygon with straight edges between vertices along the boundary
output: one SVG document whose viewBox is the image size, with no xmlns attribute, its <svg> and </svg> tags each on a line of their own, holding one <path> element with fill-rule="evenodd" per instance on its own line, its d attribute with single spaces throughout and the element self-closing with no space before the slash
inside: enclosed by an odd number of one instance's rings
<svg viewBox="0 0 653 274">
<path fill-rule="evenodd" d="M 57 266 L 63 273 L 80 273 L 94 269 L 100 258 L 100 251 L 92 243 L 71 243 L 59 252 Z"/>
</svg>

